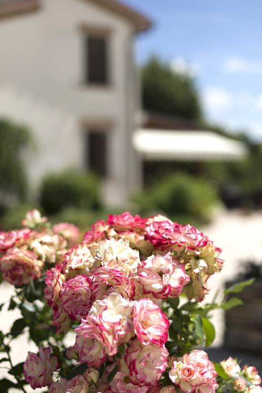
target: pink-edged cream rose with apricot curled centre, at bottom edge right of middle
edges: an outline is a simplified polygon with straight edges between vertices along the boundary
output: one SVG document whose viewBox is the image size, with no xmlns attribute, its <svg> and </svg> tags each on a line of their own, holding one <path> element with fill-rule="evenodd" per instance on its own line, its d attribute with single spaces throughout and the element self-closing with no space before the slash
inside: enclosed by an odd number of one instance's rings
<svg viewBox="0 0 262 393">
<path fill-rule="evenodd" d="M 212 362 L 204 351 L 195 350 L 177 358 L 169 372 L 171 381 L 183 393 L 213 393 L 218 387 Z"/>
</svg>

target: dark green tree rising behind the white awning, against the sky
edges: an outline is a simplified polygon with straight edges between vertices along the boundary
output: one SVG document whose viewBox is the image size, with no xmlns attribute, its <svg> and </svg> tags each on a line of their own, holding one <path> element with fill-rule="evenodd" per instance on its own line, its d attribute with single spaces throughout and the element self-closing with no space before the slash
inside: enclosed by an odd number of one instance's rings
<svg viewBox="0 0 262 393">
<path fill-rule="evenodd" d="M 194 80 L 175 73 L 168 63 L 152 56 L 142 68 L 142 96 L 146 110 L 200 121 L 202 110 Z"/>
</svg>

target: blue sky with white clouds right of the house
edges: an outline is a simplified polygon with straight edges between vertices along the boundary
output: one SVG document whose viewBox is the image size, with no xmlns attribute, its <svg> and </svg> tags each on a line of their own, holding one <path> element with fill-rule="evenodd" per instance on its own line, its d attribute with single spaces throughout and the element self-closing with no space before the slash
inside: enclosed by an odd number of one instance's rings
<svg viewBox="0 0 262 393">
<path fill-rule="evenodd" d="M 208 119 L 262 141 L 261 0 L 123 0 L 154 21 L 138 61 L 159 54 L 197 79 Z"/>
</svg>

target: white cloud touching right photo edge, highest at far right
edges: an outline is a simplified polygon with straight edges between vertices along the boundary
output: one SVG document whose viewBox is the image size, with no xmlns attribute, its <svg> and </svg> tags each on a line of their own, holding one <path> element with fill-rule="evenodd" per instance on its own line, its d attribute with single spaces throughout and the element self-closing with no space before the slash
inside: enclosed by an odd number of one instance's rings
<svg viewBox="0 0 262 393">
<path fill-rule="evenodd" d="M 241 57 L 229 57 L 223 62 L 224 71 L 229 74 L 250 73 L 262 74 L 262 61 L 247 60 Z"/>
</svg>

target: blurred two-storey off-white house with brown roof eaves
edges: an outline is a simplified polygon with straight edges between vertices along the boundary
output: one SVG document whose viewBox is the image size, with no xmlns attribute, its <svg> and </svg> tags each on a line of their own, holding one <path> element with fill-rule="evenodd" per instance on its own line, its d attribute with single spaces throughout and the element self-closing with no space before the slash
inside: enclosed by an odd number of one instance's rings
<svg viewBox="0 0 262 393">
<path fill-rule="evenodd" d="M 149 27 L 116 0 L 0 0 L 0 117 L 32 130 L 34 189 L 63 168 L 98 172 L 107 204 L 139 185 L 133 42 Z"/>
</svg>

